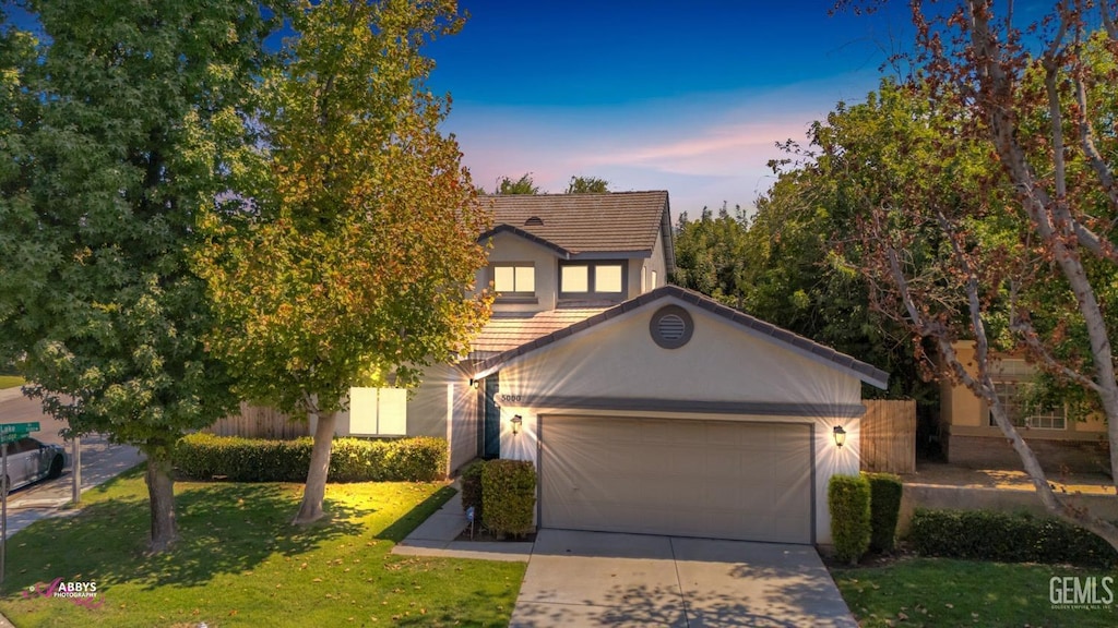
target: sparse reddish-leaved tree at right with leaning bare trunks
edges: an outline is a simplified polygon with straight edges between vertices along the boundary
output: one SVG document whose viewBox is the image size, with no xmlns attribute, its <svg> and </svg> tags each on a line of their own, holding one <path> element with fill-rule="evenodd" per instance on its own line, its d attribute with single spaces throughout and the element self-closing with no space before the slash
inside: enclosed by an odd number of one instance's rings
<svg viewBox="0 0 1118 628">
<path fill-rule="evenodd" d="M 935 344 L 940 374 L 989 405 L 1043 504 L 1118 548 L 1118 527 L 1051 489 L 994 387 L 996 351 L 1010 349 L 1086 391 L 1118 478 L 1112 3 L 1060 2 L 1034 25 L 983 0 L 931 17 L 912 7 L 920 72 L 909 87 L 923 104 L 890 118 L 887 150 L 870 148 L 887 168 L 862 168 L 850 144 L 830 153 L 877 180 L 864 269 L 879 303 Z M 958 341 L 974 343 L 973 365 Z"/>
</svg>

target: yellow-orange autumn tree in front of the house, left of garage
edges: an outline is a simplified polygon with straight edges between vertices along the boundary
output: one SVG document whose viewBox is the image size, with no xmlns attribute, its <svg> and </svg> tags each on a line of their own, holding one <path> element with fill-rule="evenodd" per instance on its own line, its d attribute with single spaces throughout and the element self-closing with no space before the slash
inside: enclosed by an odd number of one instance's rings
<svg viewBox="0 0 1118 628">
<path fill-rule="evenodd" d="M 211 216 L 199 266 L 237 390 L 316 419 L 309 523 L 349 388 L 407 387 L 468 351 L 489 313 L 473 292 L 489 211 L 425 86 L 423 45 L 462 26 L 453 1 L 307 2 L 292 25 L 263 86 L 266 184 Z"/>
</svg>

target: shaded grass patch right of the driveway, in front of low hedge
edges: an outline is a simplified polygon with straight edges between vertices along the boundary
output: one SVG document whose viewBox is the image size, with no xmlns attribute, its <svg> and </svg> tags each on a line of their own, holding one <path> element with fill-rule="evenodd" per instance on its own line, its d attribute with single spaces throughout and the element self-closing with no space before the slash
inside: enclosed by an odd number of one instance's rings
<svg viewBox="0 0 1118 628">
<path fill-rule="evenodd" d="M 1115 575 L 1101 569 L 902 559 L 884 567 L 832 568 L 831 574 L 862 628 L 1118 625 L 1118 598 L 1109 609 L 1053 608 L 1050 602 L 1052 577 Z M 1118 593 L 1118 587 L 1111 590 Z M 1099 596 L 1105 594 L 1100 588 Z"/>
</svg>

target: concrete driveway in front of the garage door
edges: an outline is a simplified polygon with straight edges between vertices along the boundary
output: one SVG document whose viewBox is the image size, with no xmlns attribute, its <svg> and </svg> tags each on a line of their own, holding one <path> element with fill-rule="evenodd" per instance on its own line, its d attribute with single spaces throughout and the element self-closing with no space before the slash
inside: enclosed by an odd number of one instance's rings
<svg viewBox="0 0 1118 628">
<path fill-rule="evenodd" d="M 856 628 L 815 549 L 542 530 L 513 628 Z"/>
</svg>

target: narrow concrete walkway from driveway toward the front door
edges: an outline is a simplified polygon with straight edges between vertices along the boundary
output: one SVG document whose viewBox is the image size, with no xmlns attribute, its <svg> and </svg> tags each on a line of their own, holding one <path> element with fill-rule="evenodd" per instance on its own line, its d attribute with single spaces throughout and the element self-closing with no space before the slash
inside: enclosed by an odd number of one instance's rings
<svg viewBox="0 0 1118 628">
<path fill-rule="evenodd" d="M 528 558 L 532 555 L 532 543 L 457 541 L 458 535 L 467 527 L 470 522 L 462 512 L 462 493 L 458 492 L 404 541 L 397 543 L 392 553 L 508 562 L 528 562 Z"/>
</svg>

